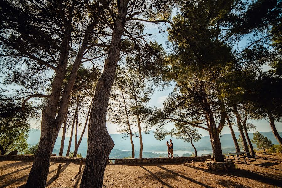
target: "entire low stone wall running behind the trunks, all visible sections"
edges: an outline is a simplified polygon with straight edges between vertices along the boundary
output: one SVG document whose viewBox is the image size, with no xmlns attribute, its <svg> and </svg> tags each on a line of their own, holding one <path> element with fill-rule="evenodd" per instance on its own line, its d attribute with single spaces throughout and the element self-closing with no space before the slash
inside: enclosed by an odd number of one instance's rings
<svg viewBox="0 0 282 188">
<path fill-rule="evenodd" d="M 0 160 L 34 160 L 34 155 L 0 155 Z M 159 157 L 159 158 L 129 158 L 129 159 L 109 159 L 114 161 L 114 164 L 124 164 L 124 163 L 175 163 L 175 162 L 184 162 L 184 161 L 205 161 L 207 159 L 212 159 L 210 155 L 195 157 Z M 60 156 L 51 156 L 51 161 L 83 161 L 85 158 L 79 157 L 60 157 Z"/>
</svg>

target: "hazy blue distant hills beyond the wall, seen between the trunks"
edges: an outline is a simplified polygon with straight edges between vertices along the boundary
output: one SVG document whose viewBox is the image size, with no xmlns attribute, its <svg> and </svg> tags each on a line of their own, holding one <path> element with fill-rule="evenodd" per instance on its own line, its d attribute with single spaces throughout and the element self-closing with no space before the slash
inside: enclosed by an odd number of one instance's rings
<svg viewBox="0 0 282 188">
<path fill-rule="evenodd" d="M 267 138 L 269 138 L 273 144 L 278 144 L 276 138 L 274 137 L 272 132 L 260 132 Z M 282 136 L 282 132 L 279 132 L 280 136 Z M 236 138 L 239 138 L 239 133 L 235 133 Z M 112 134 L 111 135 L 112 139 L 114 140 L 114 149 L 112 150 L 112 153 L 110 155 L 110 158 L 123 158 L 123 157 L 128 157 L 131 155 L 131 143 L 130 143 L 130 138 L 124 138 L 124 135 L 122 134 Z M 249 137 L 252 139 L 253 138 L 253 133 L 249 133 Z M 29 138 L 28 138 L 28 144 L 37 144 L 40 139 L 40 130 L 37 129 L 31 129 L 29 132 Z M 171 138 L 171 137 L 166 137 L 164 140 L 157 140 L 154 137 L 154 133 L 150 131 L 149 134 L 144 134 L 143 133 L 143 151 L 148 152 L 144 153 L 144 157 L 149 157 L 149 156 L 155 156 L 158 157 L 160 154 L 158 152 L 164 152 L 167 150 L 166 147 L 166 141 L 172 139 L 173 140 L 173 146 L 175 151 L 194 151 L 193 147 L 191 144 L 186 143 L 182 140 L 177 140 L 176 138 Z M 221 147 L 223 149 L 223 152 L 227 153 L 227 151 L 234 151 L 234 143 L 233 139 L 231 137 L 231 134 L 223 134 L 220 138 L 221 141 Z M 65 138 L 65 146 L 64 146 L 64 154 L 67 152 L 67 147 L 68 147 L 68 142 L 69 142 L 69 137 Z M 139 138 L 133 138 L 135 150 L 139 151 L 140 145 L 139 145 Z M 211 150 L 211 144 L 210 144 L 210 137 L 209 136 L 203 136 L 202 139 L 198 142 L 196 142 L 195 147 L 197 148 L 198 151 L 200 150 Z M 61 137 L 58 137 L 54 146 L 53 153 L 59 154 L 61 146 Z M 254 145 L 256 147 L 256 145 Z M 71 150 L 74 150 L 74 137 L 72 139 L 72 146 Z M 129 152 L 127 152 L 129 151 Z M 151 152 L 151 154 L 150 154 Z M 156 154 L 152 154 L 152 152 L 155 152 Z M 82 156 L 86 156 L 87 153 L 87 138 L 83 137 L 80 147 L 78 149 L 78 153 L 81 153 Z M 136 153 L 136 152 L 135 152 Z M 137 152 L 135 154 L 136 156 L 139 155 Z M 156 156 L 157 155 L 157 156 Z"/>
</svg>

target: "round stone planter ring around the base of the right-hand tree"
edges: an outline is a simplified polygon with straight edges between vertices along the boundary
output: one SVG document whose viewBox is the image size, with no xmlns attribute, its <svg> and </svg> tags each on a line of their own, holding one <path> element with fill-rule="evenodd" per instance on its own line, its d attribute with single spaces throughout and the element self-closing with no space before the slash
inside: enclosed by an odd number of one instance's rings
<svg viewBox="0 0 282 188">
<path fill-rule="evenodd" d="M 222 172 L 228 172 L 235 170 L 235 165 L 233 161 L 226 160 L 222 162 L 217 162 L 215 159 L 207 159 L 206 160 L 207 169 L 213 170 L 213 171 L 222 171 Z"/>
</svg>

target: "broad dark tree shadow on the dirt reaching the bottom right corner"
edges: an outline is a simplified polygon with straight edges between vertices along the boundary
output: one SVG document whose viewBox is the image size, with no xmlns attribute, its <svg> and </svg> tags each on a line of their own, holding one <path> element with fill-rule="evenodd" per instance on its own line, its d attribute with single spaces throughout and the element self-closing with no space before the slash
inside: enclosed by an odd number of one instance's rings
<svg viewBox="0 0 282 188">
<path fill-rule="evenodd" d="M 237 176 L 237 177 L 242 177 L 242 178 L 248 178 L 248 179 L 256 180 L 256 181 L 266 183 L 266 184 L 269 184 L 269 185 L 276 185 L 276 186 L 282 185 L 282 180 L 269 178 L 267 176 L 260 175 L 260 174 L 257 174 L 255 172 L 249 171 L 249 170 L 236 169 L 234 172 L 227 172 L 225 174 Z"/>
</svg>

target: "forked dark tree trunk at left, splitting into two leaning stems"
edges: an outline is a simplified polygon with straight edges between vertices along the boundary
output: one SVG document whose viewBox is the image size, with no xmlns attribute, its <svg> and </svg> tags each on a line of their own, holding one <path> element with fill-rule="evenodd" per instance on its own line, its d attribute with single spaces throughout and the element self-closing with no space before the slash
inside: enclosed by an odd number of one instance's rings
<svg viewBox="0 0 282 188">
<path fill-rule="evenodd" d="M 76 3 L 75 1 L 73 2 Z M 50 158 L 51 154 L 61 128 L 61 124 L 64 121 L 64 118 L 67 114 L 67 109 L 70 101 L 71 92 L 74 86 L 74 82 L 77 77 L 77 70 L 79 65 L 81 64 L 81 59 L 84 55 L 85 50 L 88 48 L 88 41 L 90 37 L 90 32 L 93 30 L 95 23 L 91 23 L 88 25 L 88 28 L 84 32 L 84 38 L 82 45 L 78 51 L 76 59 L 72 66 L 72 71 L 67 83 L 67 86 L 64 88 L 64 91 L 61 96 L 62 83 L 65 79 L 66 69 L 67 69 L 67 61 L 69 56 L 70 49 L 70 38 L 71 38 L 71 23 L 72 23 L 72 12 L 75 6 L 69 10 L 69 18 L 67 19 L 67 23 L 65 25 L 66 31 L 64 39 L 61 44 L 61 53 L 58 61 L 58 67 L 56 70 L 56 75 L 54 81 L 52 83 L 52 92 L 51 97 L 47 103 L 47 106 L 42 111 L 42 120 L 41 120 L 41 137 L 38 145 L 38 151 L 35 155 L 35 160 L 33 162 L 32 168 L 29 173 L 28 180 L 26 182 L 26 188 L 45 188 L 47 182 L 47 175 L 49 171 Z M 59 11 L 62 11 L 61 9 Z M 57 108 L 60 108 L 57 112 Z M 57 116 L 56 116 L 57 114 Z M 42 133 L 42 130 L 45 130 Z M 47 133 L 46 133 L 47 132 Z"/>
</svg>

